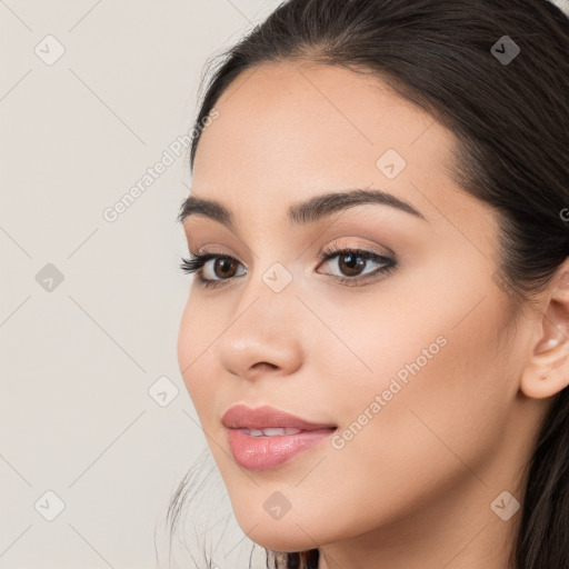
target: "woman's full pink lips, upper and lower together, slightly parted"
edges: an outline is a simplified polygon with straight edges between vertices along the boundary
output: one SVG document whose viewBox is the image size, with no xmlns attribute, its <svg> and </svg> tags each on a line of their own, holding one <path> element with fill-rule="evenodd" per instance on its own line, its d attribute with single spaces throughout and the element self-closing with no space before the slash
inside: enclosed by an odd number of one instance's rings
<svg viewBox="0 0 569 569">
<path fill-rule="evenodd" d="M 228 429 L 228 441 L 236 462 L 248 470 L 276 468 L 301 451 L 323 442 L 336 430 L 333 425 L 309 422 L 269 406 L 257 409 L 233 406 L 223 415 L 221 422 Z M 291 427 L 302 432 L 254 437 L 241 430 L 271 427 Z"/>
</svg>

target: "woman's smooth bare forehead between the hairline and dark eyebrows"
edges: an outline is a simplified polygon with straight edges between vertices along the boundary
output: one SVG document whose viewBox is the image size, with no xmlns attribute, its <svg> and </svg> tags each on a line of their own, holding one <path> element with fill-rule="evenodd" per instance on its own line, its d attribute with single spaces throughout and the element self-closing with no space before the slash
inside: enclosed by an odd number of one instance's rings
<svg viewBox="0 0 569 569">
<path fill-rule="evenodd" d="M 192 188 L 232 210 L 284 211 L 341 187 L 372 186 L 417 202 L 411 180 L 436 179 L 439 191 L 450 183 L 452 134 L 369 74 L 263 64 L 240 74 L 216 109 L 198 146 Z M 381 169 L 385 156 L 400 157 L 396 178 Z"/>
</svg>

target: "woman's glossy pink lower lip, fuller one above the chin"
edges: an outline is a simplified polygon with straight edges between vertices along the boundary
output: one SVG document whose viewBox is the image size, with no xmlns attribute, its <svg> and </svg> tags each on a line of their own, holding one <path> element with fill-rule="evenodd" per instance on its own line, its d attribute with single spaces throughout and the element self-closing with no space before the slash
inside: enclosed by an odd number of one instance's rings
<svg viewBox="0 0 569 569">
<path fill-rule="evenodd" d="M 297 435 L 251 437 L 240 429 L 228 429 L 229 446 L 237 463 L 247 470 L 277 468 L 303 450 L 320 445 L 336 429 L 316 429 Z"/>
</svg>

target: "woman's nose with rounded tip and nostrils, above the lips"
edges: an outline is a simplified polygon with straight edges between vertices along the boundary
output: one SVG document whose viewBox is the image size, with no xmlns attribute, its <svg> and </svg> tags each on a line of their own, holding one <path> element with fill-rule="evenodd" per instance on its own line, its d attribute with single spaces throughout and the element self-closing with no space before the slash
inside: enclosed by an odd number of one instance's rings
<svg viewBox="0 0 569 569">
<path fill-rule="evenodd" d="M 293 292 L 254 289 L 256 297 L 240 303 L 218 341 L 221 366 L 234 376 L 289 376 L 302 365 L 306 338 L 298 318 L 300 301 Z M 232 323 L 231 323 L 232 322 Z"/>
</svg>

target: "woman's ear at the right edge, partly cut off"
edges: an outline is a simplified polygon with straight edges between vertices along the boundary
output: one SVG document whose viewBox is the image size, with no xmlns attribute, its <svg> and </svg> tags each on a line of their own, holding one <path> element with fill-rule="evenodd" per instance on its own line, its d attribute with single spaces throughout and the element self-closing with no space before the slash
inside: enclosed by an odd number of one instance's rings
<svg viewBox="0 0 569 569">
<path fill-rule="evenodd" d="M 520 386 L 535 399 L 552 397 L 569 385 L 569 258 L 543 295 L 536 341 Z"/>
</svg>

